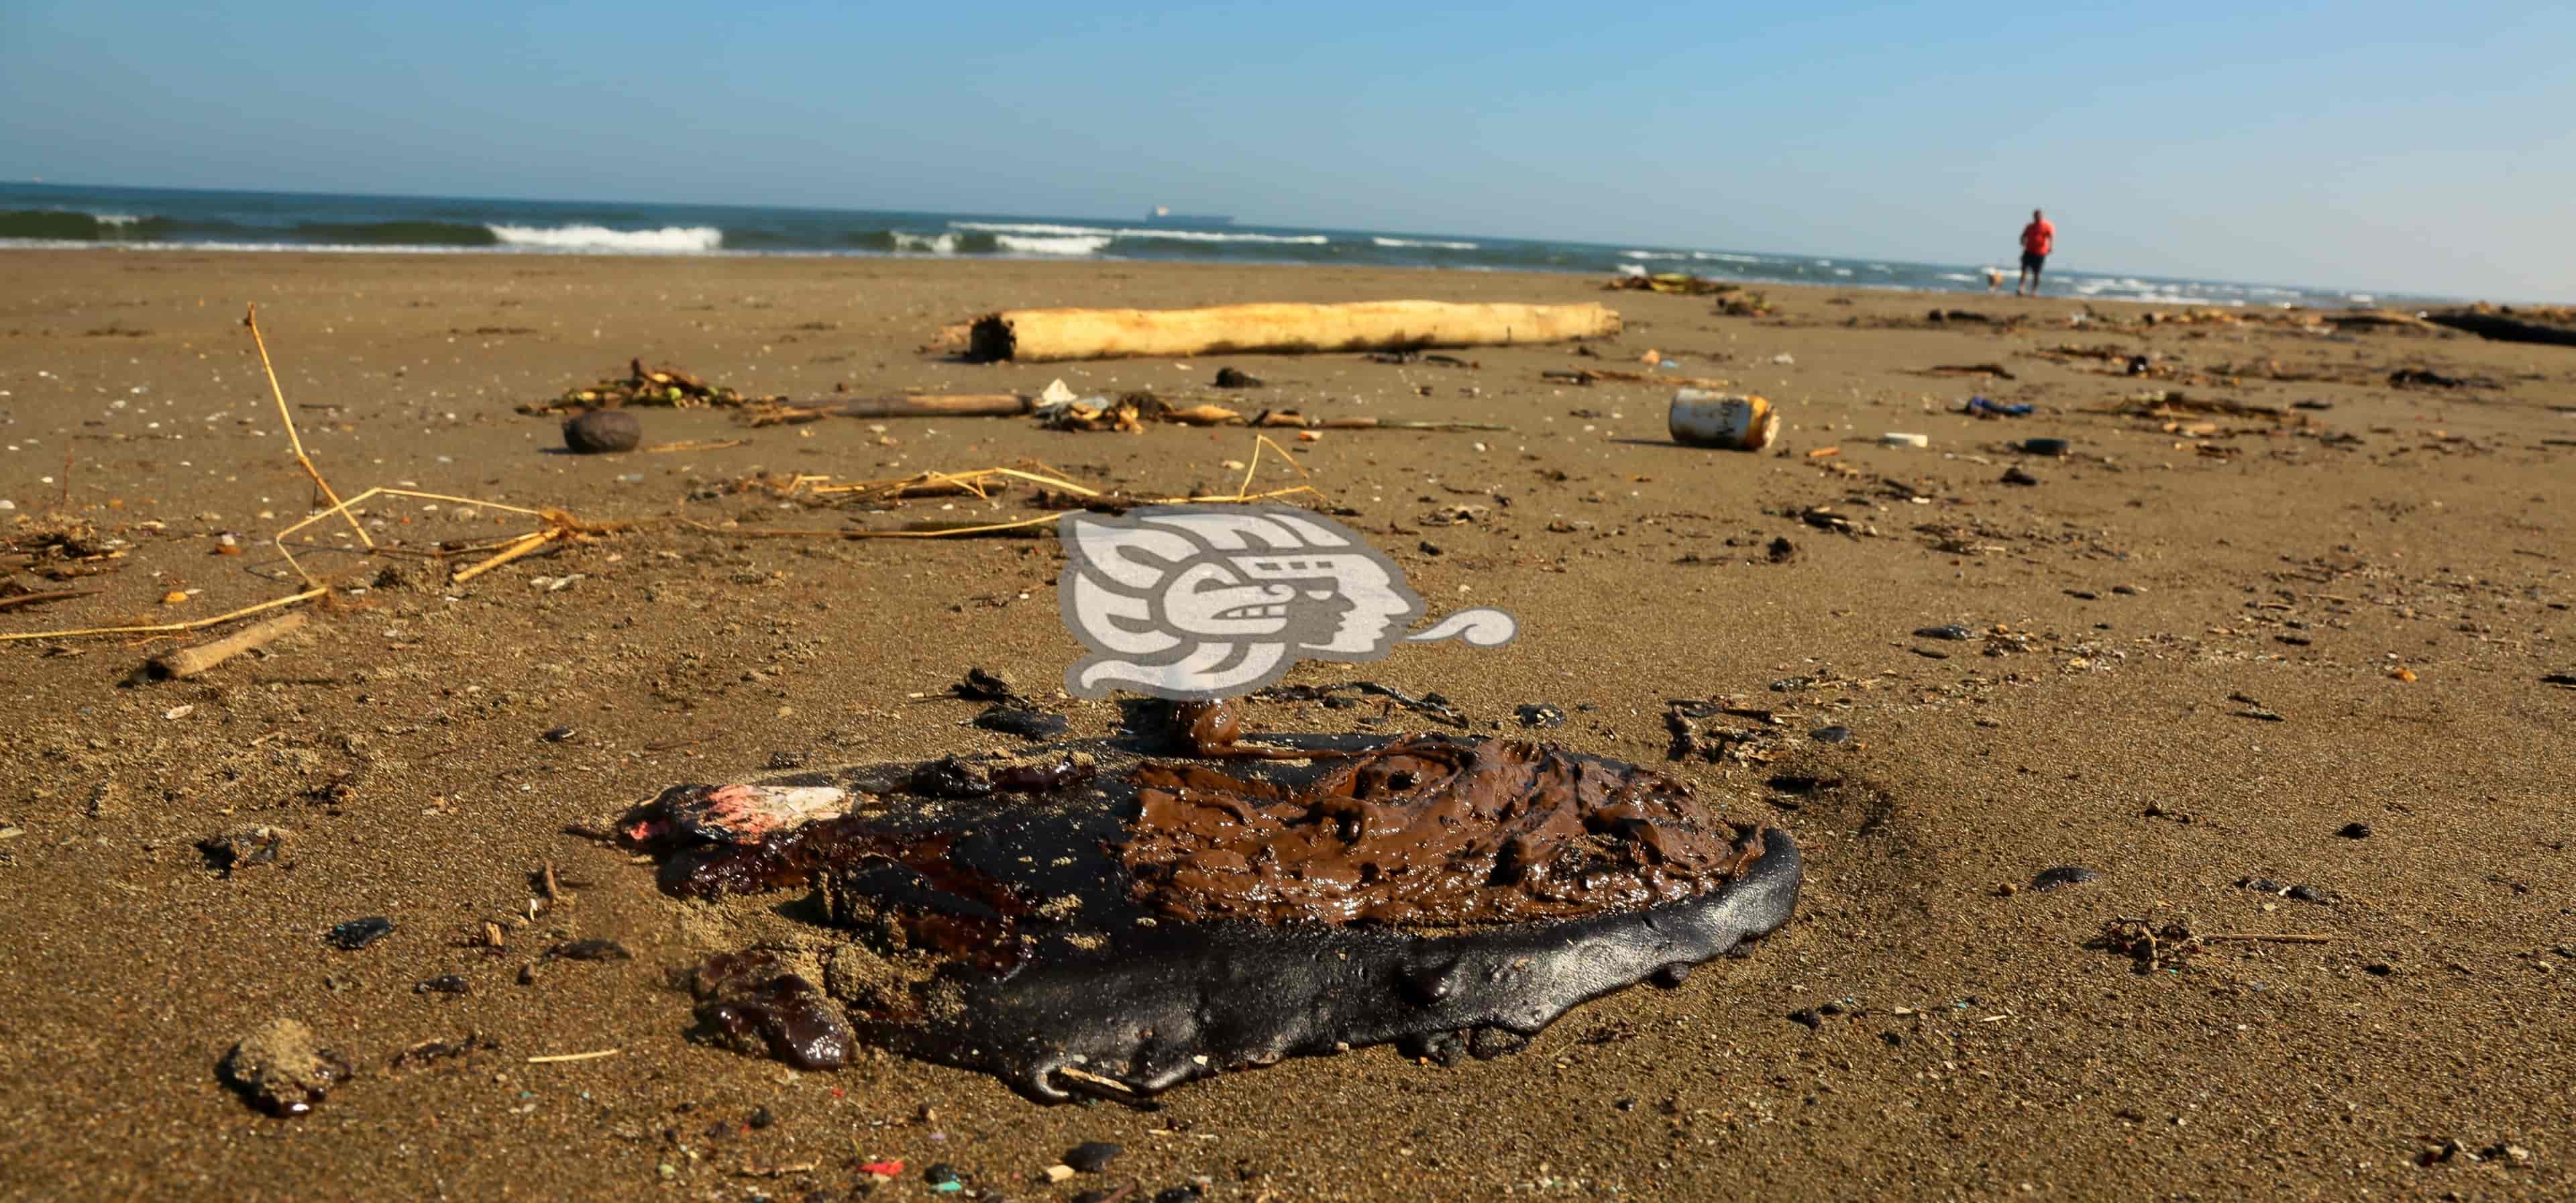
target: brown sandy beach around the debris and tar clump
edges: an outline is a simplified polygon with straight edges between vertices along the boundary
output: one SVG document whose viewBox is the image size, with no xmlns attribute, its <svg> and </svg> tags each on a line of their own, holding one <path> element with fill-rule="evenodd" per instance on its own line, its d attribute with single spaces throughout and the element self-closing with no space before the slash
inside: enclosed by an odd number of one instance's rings
<svg viewBox="0 0 2576 1203">
<path fill-rule="evenodd" d="M 1015 1200 L 2576 1193 L 2576 350 L 1857 289 L 1762 289 L 1772 314 L 1726 317 L 1595 276 L 1182 263 L 21 250 L 0 281 L 0 605 L 88 590 L 8 605 L 0 634 L 301 587 L 268 538 L 314 489 L 245 304 L 335 489 L 484 502 L 368 502 L 374 538 L 526 528 L 489 502 L 616 528 L 448 585 L 317 523 L 296 556 L 337 587 L 307 629 L 191 680 L 137 670 L 204 636 L 0 644 L 5 1198 L 963 1195 L 933 1164 Z M 1602 301 L 1625 332 L 1468 366 L 920 353 L 1005 307 L 1358 299 Z M 1770 397 L 1780 446 L 1682 448 L 1669 384 L 1546 376 L 1649 371 L 1649 348 L 1662 376 Z M 791 399 L 1064 379 L 1504 422 L 1327 430 L 1285 440 L 1293 471 L 1262 456 L 1262 487 L 1314 487 L 1435 613 L 1522 626 L 1507 649 L 1288 680 L 1437 690 L 1489 734 L 1558 706 L 1551 739 L 1793 832 L 1795 920 L 1517 1056 L 1360 1048 L 1157 1110 L 1036 1105 L 881 1051 L 801 1074 L 693 1043 L 675 981 L 747 920 L 567 827 L 675 783 L 1015 747 L 948 696 L 969 667 L 1077 737 L 1121 726 L 1054 688 L 1082 654 L 1054 538 L 768 536 L 1018 518 L 1025 489 L 868 513 L 744 482 L 1033 459 L 1229 492 L 1255 440 L 639 410 L 647 443 L 701 446 L 569 456 L 559 417 L 518 412 L 631 358 Z M 1218 368 L 1267 386 L 1218 394 Z M 1968 397 L 2032 412 L 1971 417 Z M 1674 698 L 1770 719 L 1723 719 L 1744 757 L 1669 760 Z M 1252 708 L 1255 729 L 1414 721 Z M 260 824 L 294 832 L 281 863 L 209 868 L 201 840 Z M 2061 866 L 2097 876 L 2032 889 Z M 325 943 L 358 917 L 394 933 Z M 2105 945 L 2115 920 L 2316 940 L 2151 963 Z M 544 956 L 572 940 L 631 958 Z M 464 994 L 417 989 L 448 974 Z M 250 1110 L 216 1072 L 276 1018 L 355 1069 L 307 1118 Z M 592 1051 L 613 1056 L 531 1061 Z M 1123 1154 L 1048 1182 L 1082 1141 Z M 894 1180 L 860 1170 L 896 1159 Z"/>
</svg>

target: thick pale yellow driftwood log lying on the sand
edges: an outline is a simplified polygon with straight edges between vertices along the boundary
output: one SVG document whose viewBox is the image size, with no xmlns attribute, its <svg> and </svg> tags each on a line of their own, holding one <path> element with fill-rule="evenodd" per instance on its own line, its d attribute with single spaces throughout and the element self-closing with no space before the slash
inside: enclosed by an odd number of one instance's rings
<svg viewBox="0 0 2576 1203">
<path fill-rule="evenodd" d="M 1564 343 L 1618 332 L 1600 304 L 1224 304 L 1213 309 L 1010 309 L 969 335 L 979 361 L 1185 358 Z"/>
</svg>

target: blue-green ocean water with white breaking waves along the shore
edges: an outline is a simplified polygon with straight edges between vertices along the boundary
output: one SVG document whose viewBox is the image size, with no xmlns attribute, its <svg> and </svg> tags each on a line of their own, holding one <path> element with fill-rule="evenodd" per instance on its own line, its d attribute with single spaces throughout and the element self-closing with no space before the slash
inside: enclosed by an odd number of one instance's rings
<svg viewBox="0 0 2576 1203">
<path fill-rule="evenodd" d="M 0 250 L 366 250 L 495 255 L 981 255 L 1030 260 L 1332 263 L 1463 270 L 1664 273 L 1984 294 L 1981 263 L 1762 255 L 1224 219 L 1059 219 L 453 196 L 224 193 L 0 183 Z M 2012 270 L 2009 260 L 1994 265 Z M 2159 304 L 2434 304 L 2437 296 L 2048 270 L 2058 296 Z"/>
</svg>

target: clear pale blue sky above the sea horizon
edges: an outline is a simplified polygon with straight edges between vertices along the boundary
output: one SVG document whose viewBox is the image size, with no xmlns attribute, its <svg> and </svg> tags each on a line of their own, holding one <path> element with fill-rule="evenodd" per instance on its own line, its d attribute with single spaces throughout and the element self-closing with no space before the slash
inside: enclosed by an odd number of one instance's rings
<svg viewBox="0 0 2576 1203">
<path fill-rule="evenodd" d="M 386 10 L 368 10 L 386 8 Z M 2576 5 L 0 0 L 0 178 L 2576 299 Z"/>
</svg>

